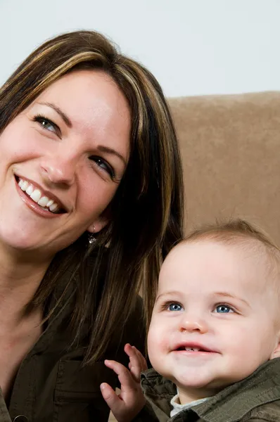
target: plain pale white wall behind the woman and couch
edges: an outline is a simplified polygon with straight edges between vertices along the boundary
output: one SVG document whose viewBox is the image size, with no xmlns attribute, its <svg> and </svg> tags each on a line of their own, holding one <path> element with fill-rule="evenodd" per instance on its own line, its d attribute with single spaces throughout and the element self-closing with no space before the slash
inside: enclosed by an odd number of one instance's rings
<svg viewBox="0 0 280 422">
<path fill-rule="evenodd" d="M 280 0 L 0 0 L 0 84 L 42 41 L 94 29 L 167 96 L 280 90 Z"/>
</svg>

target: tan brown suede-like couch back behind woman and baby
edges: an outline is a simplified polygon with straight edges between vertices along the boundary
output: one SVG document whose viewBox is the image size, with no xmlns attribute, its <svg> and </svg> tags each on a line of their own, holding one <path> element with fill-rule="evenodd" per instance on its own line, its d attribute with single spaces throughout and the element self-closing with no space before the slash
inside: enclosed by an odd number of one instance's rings
<svg viewBox="0 0 280 422">
<path fill-rule="evenodd" d="M 170 98 L 186 229 L 243 217 L 280 245 L 280 93 Z"/>
</svg>

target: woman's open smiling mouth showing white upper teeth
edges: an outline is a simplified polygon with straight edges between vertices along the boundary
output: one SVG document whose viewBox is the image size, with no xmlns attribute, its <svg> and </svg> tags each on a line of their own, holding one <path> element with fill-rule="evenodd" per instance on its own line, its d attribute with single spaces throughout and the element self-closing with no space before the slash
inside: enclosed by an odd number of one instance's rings
<svg viewBox="0 0 280 422">
<path fill-rule="evenodd" d="M 30 181 L 22 177 L 15 176 L 20 189 L 33 200 L 34 203 L 39 205 L 44 211 L 52 212 L 53 214 L 64 214 L 66 212 L 61 205 L 55 200 L 46 196 L 39 188 L 35 187 Z"/>
</svg>

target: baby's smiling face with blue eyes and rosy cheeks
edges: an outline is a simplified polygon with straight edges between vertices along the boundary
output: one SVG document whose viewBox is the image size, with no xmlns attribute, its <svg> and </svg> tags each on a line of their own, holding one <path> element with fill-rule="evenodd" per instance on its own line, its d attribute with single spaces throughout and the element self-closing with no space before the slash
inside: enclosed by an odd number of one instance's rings
<svg viewBox="0 0 280 422">
<path fill-rule="evenodd" d="M 263 257 L 214 241 L 179 244 L 163 263 L 148 355 L 182 403 L 253 373 L 279 343 Z M 269 280 L 270 282 L 270 280 Z"/>
</svg>

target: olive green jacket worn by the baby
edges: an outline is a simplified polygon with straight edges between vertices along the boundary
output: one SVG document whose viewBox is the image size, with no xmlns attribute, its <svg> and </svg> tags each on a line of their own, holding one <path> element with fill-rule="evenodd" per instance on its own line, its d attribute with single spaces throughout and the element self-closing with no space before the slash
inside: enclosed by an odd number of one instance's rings
<svg viewBox="0 0 280 422">
<path fill-rule="evenodd" d="M 176 386 L 153 369 L 142 374 L 147 405 L 134 422 L 279 422 L 280 358 L 273 359 L 252 375 L 170 418 L 170 400 Z"/>
</svg>

